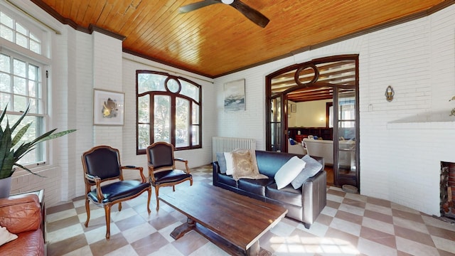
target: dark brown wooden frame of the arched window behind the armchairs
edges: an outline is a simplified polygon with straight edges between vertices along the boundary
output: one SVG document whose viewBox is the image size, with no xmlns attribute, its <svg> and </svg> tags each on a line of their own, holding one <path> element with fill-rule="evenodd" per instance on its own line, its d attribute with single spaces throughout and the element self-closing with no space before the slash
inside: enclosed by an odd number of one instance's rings
<svg viewBox="0 0 455 256">
<path fill-rule="evenodd" d="M 141 92 L 139 94 L 139 75 L 140 74 L 154 74 L 166 76 L 164 80 L 164 91 L 163 90 L 150 90 L 147 92 Z M 169 80 L 175 80 L 178 83 L 179 89 L 176 92 L 172 92 L 168 88 L 166 82 Z M 181 92 L 181 81 L 188 82 L 191 85 L 195 85 L 198 88 L 198 101 L 192 97 L 180 94 Z M 149 95 L 149 122 L 139 122 L 139 97 Z M 139 149 L 139 125 L 149 124 L 149 144 L 153 144 L 154 141 L 154 96 L 155 95 L 166 95 L 170 97 L 171 103 L 171 122 L 170 122 L 170 143 L 174 145 L 175 150 L 188 150 L 188 149 L 200 149 L 202 148 L 202 86 L 196 82 L 183 78 L 181 76 L 170 75 L 165 72 L 154 71 L 154 70 L 136 70 L 136 154 L 146 154 L 146 149 Z M 176 146 L 176 100 L 181 98 L 188 100 L 188 146 Z M 193 120 L 193 104 L 198 105 L 198 123 Z M 193 127 L 197 127 L 198 134 L 193 134 Z M 197 136 L 197 144 L 193 145 L 193 137 Z M 157 141 L 158 142 L 158 141 Z"/>
</svg>

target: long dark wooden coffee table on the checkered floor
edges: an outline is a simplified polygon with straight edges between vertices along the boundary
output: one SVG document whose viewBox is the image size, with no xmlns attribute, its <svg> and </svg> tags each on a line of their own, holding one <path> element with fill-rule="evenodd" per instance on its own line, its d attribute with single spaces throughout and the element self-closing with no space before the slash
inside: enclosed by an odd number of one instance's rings
<svg viewBox="0 0 455 256">
<path fill-rule="evenodd" d="M 160 195 L 159 199 L 188 217 L 171 233 L 181 238 L 191 230 L 232 255 L 272 255 L 259 238 L 279 223 L 287 209 L 200 183 Z"/>
</svg>

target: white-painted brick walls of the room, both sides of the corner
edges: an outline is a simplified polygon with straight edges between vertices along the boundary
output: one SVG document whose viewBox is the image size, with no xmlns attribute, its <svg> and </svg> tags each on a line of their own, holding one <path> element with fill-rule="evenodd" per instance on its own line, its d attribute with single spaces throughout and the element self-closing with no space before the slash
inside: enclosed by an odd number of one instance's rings
<svg viewBox="0 0 455 256">
<path fill-rule="evenodd" d="M 449 102 L 455 95 L 454 16 L 452 5 L 416 21 L 226 75 L 214 84 L 210 79 L 124 54 L 117 39 L 61 26 L 63 34 L 51 36 L 51 124 L 59 129 L 75 126 L 77 132 L 53 143 L 52 165 L 41 168 L 48 178 L 18 174 L 14 192 L 45 188 L 48 206 L 82 195 L 80 154 L 96 144 L 118 147 L 124 164 L 146 166 L 145 156 L 135 154 L 136 69 L 166 69 L 203 85 L 203 149 L 176 152 L 191 166 L 199 166 L 210 162 L 213 136 L 253 138 L 257 149 L 265 148 L 267 74 L 313 58 L 357 53 L 360 191 L 438 215 L 439 164 L 455 161 L 455 118 L 448 117 L 455 107 L 455 102 Z M 224 112 L 224 83 L 243 78 L 246 110 Z M 388 85 L 395 89 L 393 102 L 384 97 Z M 125 92 L 123 127 L 92 125 L 93 87 Z"/>
</svg>

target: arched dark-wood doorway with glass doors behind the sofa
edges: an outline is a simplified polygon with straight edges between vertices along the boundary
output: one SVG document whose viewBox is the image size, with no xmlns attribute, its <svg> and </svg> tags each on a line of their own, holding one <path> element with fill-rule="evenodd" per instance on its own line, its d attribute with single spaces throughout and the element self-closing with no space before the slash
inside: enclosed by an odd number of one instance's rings
<svg viewBox="0 0 455 256">
<path fill-rule="evenodd" d="M 302 140 L 310 155 L 324 157 L 334 185 L 359 188 L 358 85 L 358 55 L 319 58 L 267 75 L 267 150 L 288 151 L 290 138 Z M 323 105 L 326 117 L 315 117 L 310 103 Z M 320 125 L 310 122 L 315 118 Z"/>
</svg>

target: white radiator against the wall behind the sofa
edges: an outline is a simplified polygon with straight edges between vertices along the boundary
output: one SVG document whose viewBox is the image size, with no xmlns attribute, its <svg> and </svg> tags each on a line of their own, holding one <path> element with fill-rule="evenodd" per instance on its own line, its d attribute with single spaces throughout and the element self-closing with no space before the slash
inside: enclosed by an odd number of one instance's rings
<svg viewBox="0 0 455 256">
<path fill-rule="evenodd" d="M 217 152 L 230 152 L 235 149 L 256 149 L 255 139 L 212 137 L 212 161 L 216 161 Z"/>
</svg>

